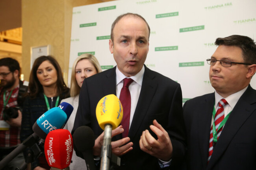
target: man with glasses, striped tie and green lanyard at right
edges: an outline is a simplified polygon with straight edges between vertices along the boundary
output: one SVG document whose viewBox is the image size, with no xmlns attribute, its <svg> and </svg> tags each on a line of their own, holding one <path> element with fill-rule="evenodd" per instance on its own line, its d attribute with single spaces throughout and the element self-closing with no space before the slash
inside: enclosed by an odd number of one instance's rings
<svg viewBox="0 0 256 170">
<path fill-rule="evenodd" d="M 207 59 L 215 92 L 183 106 L 187 168 L 255 170 L 256 90 L 250 80 L 256 71 L 256 45 L 240 35 L 217 38 L 215 44 L 215 53 Z"/>
</svg>

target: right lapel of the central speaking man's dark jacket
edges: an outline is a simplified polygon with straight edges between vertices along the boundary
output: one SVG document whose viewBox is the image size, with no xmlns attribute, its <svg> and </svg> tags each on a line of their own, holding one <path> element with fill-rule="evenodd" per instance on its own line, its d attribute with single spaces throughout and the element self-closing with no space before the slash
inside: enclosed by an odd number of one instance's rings
<svg viewBox="0 0 256 170">
<path fill-rule="evenodd" d="M 139 94 L 139 100 L 134 112 L 132 124 L 130 126 L 128 137 L 132 140 L 135 136 L 141 122 L 143 121 L 150 103 L 154 97 L 157 88 L 157 82 L 154 80 L 154 73 L 145 66 L 145 73 L 143 75 L 143 82 L 141 86 L 141 92 Z"/>
</svg>

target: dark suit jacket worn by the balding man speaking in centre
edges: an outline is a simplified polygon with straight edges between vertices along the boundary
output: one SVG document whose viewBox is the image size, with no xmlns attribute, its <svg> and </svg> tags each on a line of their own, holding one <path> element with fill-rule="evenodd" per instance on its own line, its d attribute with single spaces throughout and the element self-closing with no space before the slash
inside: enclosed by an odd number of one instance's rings
<svg viewBox="0 0 256 170">
<path fill-rule="evenodd" d="M 79 106 L 72 132 L 79 126 L 90 126 L 96 137 L 103 131 L 96 120 L 95 109 L 105 95 L 116 95 L 116 67 L 98 73 L 84 80 L 79 98 Z M 158 159 L 139 148 L 139 139 L 156 119 L 169 133 L 173 144 L 173 163 L 180 161 L 185 154 L 185 127 L 182 115 L 182 92 L 180 84 L 148 69 L 145 73 L 141 93 L 135 109 L 128 137 L 134 143 L 133 150 L 121 157 L 122 170 L 157 170 Z M 151 132 L 153 134 L 153 132 Z M 156 137 L 156 135 L 154 135 Z M 112 141 L 121 139 L 121 135 Z"/>
</svg>

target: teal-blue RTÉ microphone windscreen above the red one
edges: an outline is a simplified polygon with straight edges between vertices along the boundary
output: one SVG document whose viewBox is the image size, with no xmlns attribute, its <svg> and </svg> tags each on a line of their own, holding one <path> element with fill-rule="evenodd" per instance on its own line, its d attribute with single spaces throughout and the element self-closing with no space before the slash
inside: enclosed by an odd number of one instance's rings
<svg viewBox="0 0 256 170">
<path fill-rule="evenodd" d="M 45 139 L 50 131 L 61 128 L 66 120 L 67 115 L 61 108 L 51 108 L 37 119 L 32 129 L 39 137 Z"/>
</svg>

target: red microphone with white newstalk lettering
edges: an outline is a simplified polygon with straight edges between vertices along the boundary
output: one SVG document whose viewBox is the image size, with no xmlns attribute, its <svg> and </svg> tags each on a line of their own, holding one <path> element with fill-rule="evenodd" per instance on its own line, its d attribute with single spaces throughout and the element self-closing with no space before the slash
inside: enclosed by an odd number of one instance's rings
<svg viewBox="0 0 256 170">
<path fill-rule="evenodd" d="M 69 170 L 73 154 L 73 139 L 66 129 L 48 133 L 45 139 L 45 157 L 51 170 Z"/>
</svg>

